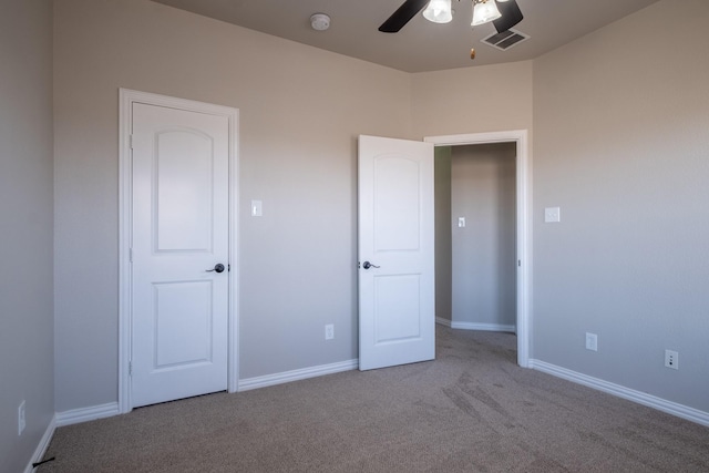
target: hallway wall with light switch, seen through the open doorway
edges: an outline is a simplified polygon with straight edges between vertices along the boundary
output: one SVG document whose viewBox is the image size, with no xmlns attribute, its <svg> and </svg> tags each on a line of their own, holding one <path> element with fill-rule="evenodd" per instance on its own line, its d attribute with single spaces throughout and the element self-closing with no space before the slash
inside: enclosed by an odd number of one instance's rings
<svg viewBox="0 0 709 473">
<path fill-rule="evenodd" d="M 515 172 L 515 143 L 452 147 L 453 327 L 516 325 Z"/>
</svg>

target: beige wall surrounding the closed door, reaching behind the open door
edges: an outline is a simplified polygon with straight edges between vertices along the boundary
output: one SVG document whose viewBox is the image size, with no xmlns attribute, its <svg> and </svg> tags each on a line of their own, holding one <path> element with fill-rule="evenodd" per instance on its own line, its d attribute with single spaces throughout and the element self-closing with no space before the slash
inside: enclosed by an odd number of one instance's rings
<svg viewBox="0 0 709 473">
<path fill-rule="evenodd" d="M 411 135 L 410 76 L 144 0 L 54 27 L 56 410 L 117 400 L 119 88 L 240 111 L 240 377 L 357 358 L 356 137 Z"/>
</svg>

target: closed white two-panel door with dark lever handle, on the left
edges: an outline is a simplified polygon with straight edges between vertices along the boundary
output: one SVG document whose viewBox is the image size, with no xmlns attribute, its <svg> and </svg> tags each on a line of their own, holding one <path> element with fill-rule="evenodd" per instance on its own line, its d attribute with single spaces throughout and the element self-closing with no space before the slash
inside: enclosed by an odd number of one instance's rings
<svg viewBox="0 0 709 473">
<path fill-rule="evenodd" d="M 229 124 L 142 103 L 132 113 L 131 400 L 138 407 L 227 388 Z"/>
</svg>

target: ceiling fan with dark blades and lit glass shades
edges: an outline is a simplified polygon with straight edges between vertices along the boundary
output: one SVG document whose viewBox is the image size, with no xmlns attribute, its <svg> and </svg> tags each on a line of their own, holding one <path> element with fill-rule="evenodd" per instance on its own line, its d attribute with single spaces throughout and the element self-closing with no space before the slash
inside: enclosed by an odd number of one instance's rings
<svg viewBox="0 0 709 473">
<path fill-rule="evenodd" d="M 460 1 L 460 0 L 459 0 Z M 524 18 L 516 0 L 472 0 L 473 25 L 492 21 L 499 33 L 507 31 Z M 423 16 L 436 23 L 451 21 L 451 0 L 405 0 L 401 7 L 384 21 L 379 31 L 395 33 L 401 30 L 424 7 L 429 6 Z M 441 8 L 440 10 L 434 10 Z M 484 11 L 483 11 L 484 10 Z"/>
</svg>

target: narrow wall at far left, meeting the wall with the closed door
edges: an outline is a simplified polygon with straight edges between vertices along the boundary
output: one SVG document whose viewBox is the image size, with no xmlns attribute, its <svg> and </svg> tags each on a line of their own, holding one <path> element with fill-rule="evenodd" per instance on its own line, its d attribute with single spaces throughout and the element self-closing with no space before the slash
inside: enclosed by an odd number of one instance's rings
<svg viewBox="0 0 709 473">
<path fill-rule="evenodd" d="M 0 471 L 21 472 L 54 414 L 52 6 L 1 11 Z"/>
</svg>

